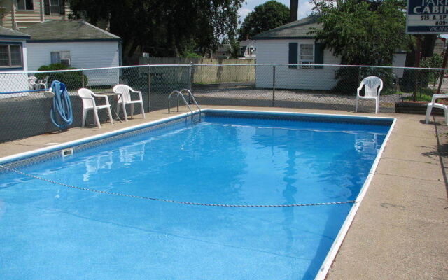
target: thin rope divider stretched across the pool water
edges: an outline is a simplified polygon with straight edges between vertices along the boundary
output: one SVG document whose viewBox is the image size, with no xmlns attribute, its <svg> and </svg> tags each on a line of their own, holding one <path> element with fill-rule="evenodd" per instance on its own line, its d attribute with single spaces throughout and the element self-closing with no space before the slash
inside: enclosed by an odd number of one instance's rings
<svg viewBox="0 0 448 280">
<path fill-rule="evenodd" d="M 9 170 L 11 172 L 15 172 L 18 174 L 22 174 L 34 179 L 38 179 L 41 181 L 45 181 L 48 183 L 54 183 L 60 186 L 64 186 L 67 188 L 74 188 L 76 190 L 85 190 L 88 192 L 92 192 L 92 193 L 102 193 L 104 195 L 117 195 L 120 197 L 131 197 L 131 198 L 137 198 L 140 200 L 155 200 L 155 201 L 159 201 L 159 202 L 171 202 L 171 203 L 177 203 L 177 204 L 187 204 L 187 205 L 197 205 L 197 206 L 214 206 L 214 207 L 301 207 L 301 206 L 318 206 L 318 205 L 335 205 L 335 204 L 348 204 L 348 203 L 356 203 L 356 200 L 348 200 L 348 201 L 343 201 L 343 202 L 320 202 L 320 203 L 302 203 L 302 204 L 260 204 L 260 205 L 255 205 L 255 204 L 214 204 L 214 203 L 200 203 L 200 202 L 182 202 L 182 201 L 177 201 L 177 200 L 165 200 L 163 198 L 155 198 L 155 197 L 144 197 L 141 195 L 127 195 L 125 193 L 113 193 L 113 192 L 108 192 L 106 190 L 92 190 L 91 188 L 83 188 L 83 187 L 77 187 L 77 186 L 72 186 L 66 183 L 60 183 L 57 181 L 52 181 L 49 179 L 45 179 L 39 176 L 35 176 L 32 174 L 27 174 L 25 172 L 21 172 L 17 169 L 13 169 L 10 167 L 6 167 L 4 165 L 0 165 L 1 168 Z"/>
</svg>

